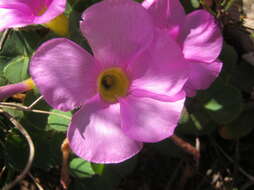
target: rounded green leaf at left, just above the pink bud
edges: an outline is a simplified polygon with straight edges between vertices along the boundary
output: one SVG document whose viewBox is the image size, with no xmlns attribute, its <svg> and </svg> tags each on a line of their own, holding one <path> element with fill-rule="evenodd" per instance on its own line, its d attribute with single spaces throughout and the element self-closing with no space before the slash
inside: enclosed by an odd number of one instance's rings
<svg viewBox="0 0 254 190">
<path fill-rule="evenodd" d="M 18 56 L 10 61 L 4 68 L 4 77 L 10 83 L 18 83 L 28 78 L 29 58 L 26 56 Z"/>
</svg>

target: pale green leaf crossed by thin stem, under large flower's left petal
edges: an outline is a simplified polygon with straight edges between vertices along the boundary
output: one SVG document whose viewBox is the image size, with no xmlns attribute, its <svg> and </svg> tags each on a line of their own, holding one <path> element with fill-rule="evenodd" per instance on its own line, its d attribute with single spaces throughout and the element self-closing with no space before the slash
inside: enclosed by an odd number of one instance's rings
<svg viewBox="0 0 254 190">
<path fill-rule="evenodd" d="M 62 112 L 59 110 L 51 110 L 51 112 L 56 114 L 62 114 L 70 118 L 72 116 L 71 112 Z M 52 114 L 52 115 L 49 115 L 48 117 L 48 129 L 53 129 L 56 131 L 66 131 L 69 123 L 70 123 L 70 119 L 66 119 L 58 115 Z"/>
</svg>

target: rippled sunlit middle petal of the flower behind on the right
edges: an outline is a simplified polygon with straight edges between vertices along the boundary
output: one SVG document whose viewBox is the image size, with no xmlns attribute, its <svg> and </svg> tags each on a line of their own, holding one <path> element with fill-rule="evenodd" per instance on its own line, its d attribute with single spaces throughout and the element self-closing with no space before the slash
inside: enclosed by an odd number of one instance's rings
<svg viewBox="0 0 254 190">
<path fill-rule="evenodd" d="M 213 62 L 222 48 L 222 35 L 215 18 L 205 10 L 187 15 L 180 37 L 186 59 Z"/>
</svg>

